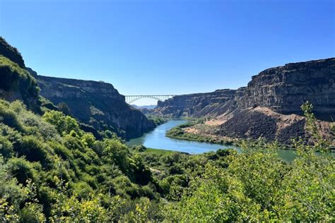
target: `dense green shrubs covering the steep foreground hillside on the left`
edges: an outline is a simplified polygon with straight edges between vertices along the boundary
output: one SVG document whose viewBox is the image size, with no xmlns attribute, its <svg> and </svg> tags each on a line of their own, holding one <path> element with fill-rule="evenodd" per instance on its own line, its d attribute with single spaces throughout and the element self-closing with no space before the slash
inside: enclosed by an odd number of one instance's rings
<svg viewBox="0 0 335 223">
<path fill-rule="evenodd" d="M 141 157 L 60 111 L 41 117 L 1 100 L 0 119 L 1 221 L 132 219 L 160 196 Z"/>
</svg>

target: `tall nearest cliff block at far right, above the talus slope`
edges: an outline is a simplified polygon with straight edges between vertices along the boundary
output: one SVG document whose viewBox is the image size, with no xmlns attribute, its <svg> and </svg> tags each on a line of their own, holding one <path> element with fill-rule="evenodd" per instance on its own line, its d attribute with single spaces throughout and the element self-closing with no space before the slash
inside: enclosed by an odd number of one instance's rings
<svg viewBox="0 0 335 223">
<path fill-rule="evenodd" d="M 269 68 L 237 91 L 241 107 L 268 107 L 281 114 L 301 114 L 305 101 L 319 119 L 335 118 L 335 59 L 322 59 Z"/>
</svg>

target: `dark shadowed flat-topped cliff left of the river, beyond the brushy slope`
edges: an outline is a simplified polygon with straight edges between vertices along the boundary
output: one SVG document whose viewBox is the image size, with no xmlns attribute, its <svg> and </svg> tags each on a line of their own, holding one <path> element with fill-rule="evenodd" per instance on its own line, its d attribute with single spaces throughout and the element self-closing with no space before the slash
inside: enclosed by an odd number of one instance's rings
<svg viewBox="0 0 335 223">
<path fill-rule="evenodd" d="M 65 102 L 76 119 L 98 130 L 114 128 L 124 131 L 126 138 L 135 138 L 155 127 L 109 83 L 46 76 L 37 80 L 43 97 L 54 104 Z"/>
</svg>

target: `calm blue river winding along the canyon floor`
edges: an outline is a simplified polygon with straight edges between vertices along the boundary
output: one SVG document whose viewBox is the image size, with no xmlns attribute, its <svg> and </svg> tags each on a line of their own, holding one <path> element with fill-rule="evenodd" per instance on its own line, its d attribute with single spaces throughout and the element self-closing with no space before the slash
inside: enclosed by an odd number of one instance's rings
<svg viewBox="0 0 335 223">
<path fill-rule="evenodd" d="M 189 154 L 199 154 L 227 148 L 233 148 L 238 152 L 241 152 L 240 147 L 236 147 L 233 145 L 202 143 L 197 141 L 168 138 L 165 136 L 165 133 L 169 131 L 171 128 L 186 122 L 187 122 L 186 120 L 182 119 L 173 119 L 167 121 L 166 123 L 157 126 L 153 131 L 145 133 L 139 138 L 133 138 L 129 140 L 126 143 L 126 145 L 128 146 L 144 145 L 145 147 L 161 149 L 161 150 L 187 152 Z M 295 158 L 295 152 L 292 150 L 278 150 L 278 157 L 281 157 L 281 159 L 287 162 L 291 162 Z"/>
</svg>

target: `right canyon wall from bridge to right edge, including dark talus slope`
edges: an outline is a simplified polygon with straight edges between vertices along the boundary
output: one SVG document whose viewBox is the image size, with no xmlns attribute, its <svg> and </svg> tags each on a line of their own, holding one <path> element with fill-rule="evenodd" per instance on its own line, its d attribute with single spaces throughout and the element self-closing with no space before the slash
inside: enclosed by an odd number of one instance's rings
<svg viewBox="0 0 335 223">
<path fill-rule="evenodd" d="M 178 95 L 160 102 L 154 114 L 209 117 L 216 135 L 259 138 L 289 143 L 307 137 L 301 104 L 309 101 L 319 129 L 329 135 L 335 119 L 335 59 L 321 59 L 269 68 L 237 90 Z M 199 132 L 199 131 L 197 131 Z M 212 131 L 213 132 L 213 131 Z"/>
</svg>

